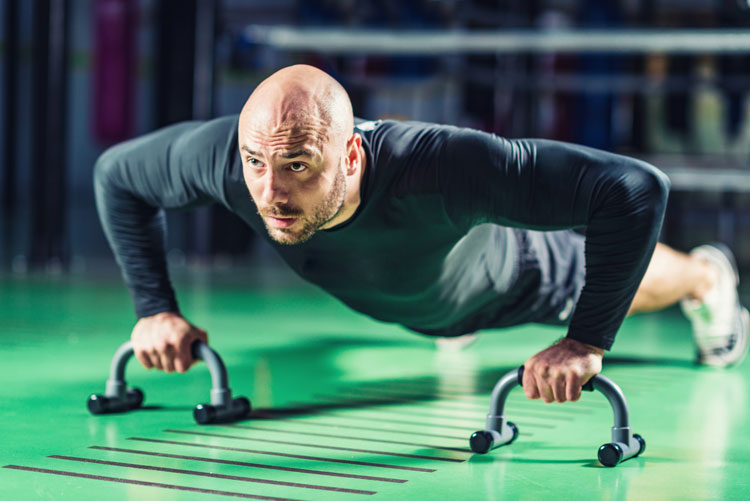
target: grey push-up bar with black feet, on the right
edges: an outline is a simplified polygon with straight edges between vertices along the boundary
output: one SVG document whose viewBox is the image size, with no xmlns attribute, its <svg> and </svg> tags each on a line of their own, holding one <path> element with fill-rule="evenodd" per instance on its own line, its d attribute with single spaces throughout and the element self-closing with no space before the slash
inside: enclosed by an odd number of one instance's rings
<svg viewBox="0 0 750 501">
<path fill-rule="evenodd" d="M 518 438 L 518 427 L 508 421 L 504 415 L 505 400 L 516 385 L 523 385 L 524 367 L 513 369 L 495 384 L 490 401 L 490 412 L 487 414 L 486 429 L 474 432 L 469 439 L 471 450 L 486 454 L 490 449 L 501 445 L 510 445 Z M 612 427 L 612 442 L 599 447 L 598 458 L 604 466 L 617 466 L 619 463 L 639 456 L 646 450 L 646 441 L 630 429 L 628 404 L 622 390 L 602 375 L 592 377 L 582 390 L 599 390 L 607 397 L 615 424 Z"/>
</svg>

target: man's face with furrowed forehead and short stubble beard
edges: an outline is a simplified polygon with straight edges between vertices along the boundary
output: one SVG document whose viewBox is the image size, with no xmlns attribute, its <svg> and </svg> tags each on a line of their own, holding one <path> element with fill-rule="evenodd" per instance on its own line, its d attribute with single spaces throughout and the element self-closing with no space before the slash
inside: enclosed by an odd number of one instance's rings
<svg viewBox="0 0 750 501">
<path fill-rule="evenodd" d="M 318 124 L 240 126 L 245 184 L 268 234 L 299 244 L 333 219 L 346 197 L 345 149 Z"/>
</svg>

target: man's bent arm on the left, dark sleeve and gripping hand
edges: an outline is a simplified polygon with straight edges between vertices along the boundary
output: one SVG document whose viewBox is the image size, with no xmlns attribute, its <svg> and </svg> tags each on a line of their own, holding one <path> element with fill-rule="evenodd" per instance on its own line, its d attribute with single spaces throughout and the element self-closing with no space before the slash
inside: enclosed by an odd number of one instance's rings
<svg viewBox="0 0 750 501">
<path fill-rule="evenodd" d="M 187 370 L 206 334 L 182 319 L 164 252 L 164 209 L 224 200 L 236 117 L 174 125 L 105 152 L 94 169 L 97 210 L 139 318 L 132 339 L 149 367 Z"/>
</svg>

